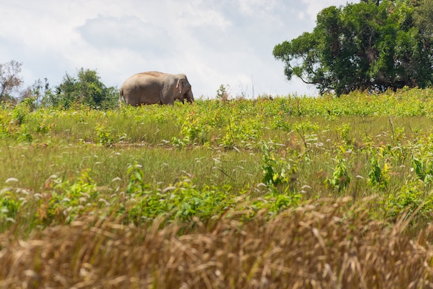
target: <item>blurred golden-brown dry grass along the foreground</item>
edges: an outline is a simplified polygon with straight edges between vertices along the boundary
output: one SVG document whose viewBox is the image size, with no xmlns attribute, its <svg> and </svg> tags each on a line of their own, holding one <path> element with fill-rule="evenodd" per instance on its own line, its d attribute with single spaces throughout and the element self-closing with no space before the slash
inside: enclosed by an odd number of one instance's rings
<svg viewBox="0 0 433 289">
<path fill-rule="evenodd" d="M 374 201 L 165 227 L 86 217 L 26 240 L 4 233 L 0 288 L 432 288 L 433 227 L 409 238 L 412 218 L 372 221 L 360 203 Z"/>
</svg>

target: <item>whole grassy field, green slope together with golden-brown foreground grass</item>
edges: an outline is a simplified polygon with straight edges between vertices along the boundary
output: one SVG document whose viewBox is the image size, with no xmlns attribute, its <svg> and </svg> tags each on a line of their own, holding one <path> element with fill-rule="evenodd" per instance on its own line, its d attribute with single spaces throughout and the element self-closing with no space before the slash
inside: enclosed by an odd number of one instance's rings
<svg viewBox="0 0 433 289">
<path fill-rule="evenodd" d="M 433 90 L 0 109 L 0 288 L 432 288 Z"/>
</svg>

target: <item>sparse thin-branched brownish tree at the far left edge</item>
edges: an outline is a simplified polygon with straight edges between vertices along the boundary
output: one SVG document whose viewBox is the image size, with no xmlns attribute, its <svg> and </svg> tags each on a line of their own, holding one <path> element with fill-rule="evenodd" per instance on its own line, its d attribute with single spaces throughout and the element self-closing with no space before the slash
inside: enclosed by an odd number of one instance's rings
<svg viewBox="0 0 433 289">
<path fill-rule="evenodd" d="M 0 101 L 12 100 L 12 93 L 23 84 L 23 80 L 19 76 L 21 65 L 15 60 L 0 63 Z"/>
</svg>

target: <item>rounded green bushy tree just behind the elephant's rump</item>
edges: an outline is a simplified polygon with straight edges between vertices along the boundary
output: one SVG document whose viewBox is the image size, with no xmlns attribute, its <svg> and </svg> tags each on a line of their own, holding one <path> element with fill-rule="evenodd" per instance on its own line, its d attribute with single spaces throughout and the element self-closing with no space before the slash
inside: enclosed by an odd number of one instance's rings
<svg viewBox="0 0 433 289">
<path fill-rule="evenodd" d="M 77 77 L 66 75 L 62 83 L 55 87 L 54 106 L 69 108 L 85 105 L 92 108 L 113 108 L 118 103 L 118 90 L 106 87 L 95 70 L 80 69 Z"/>
</svg>

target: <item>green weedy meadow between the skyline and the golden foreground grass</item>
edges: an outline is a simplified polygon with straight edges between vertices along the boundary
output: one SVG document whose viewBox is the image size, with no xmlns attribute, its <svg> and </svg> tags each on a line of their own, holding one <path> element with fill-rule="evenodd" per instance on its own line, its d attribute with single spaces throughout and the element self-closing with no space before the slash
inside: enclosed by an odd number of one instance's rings
<svg viewBox="0 0 433 289">
<path fill-rule="evenodd" d="M 221 228 L 228 226 L 240 230 L 236 238 L 251 234 L 251 242 L 256 242 L 260 230 L 281 225 L 280 215 L 297 216 L 300 226 L 313 222 L 312 215 L 304 220 L 295 213 L 303 208 L 329 215 L 324 218 L 327 225 L 317 225 L 330 230 L 330 235 L 322 231 L 327 250 L 365 226 L 384 236 L 397 230 L 407 239 L 396 242 L 418 240 L 430 252 L 423 240 L 431 236 L 433 211 L 432 100 L 432 90 L 411 89 L 341 98 L 197 100 L 194 105 L 107 112 L 32 110 L 26 103 L 2 107 L 0 236 L 49 243 L 45 236 L 53 228 L 67 231 L 75 226 L 87 232 L 107 220 L 105 230 L 113 231 L 107 233 L 113 242 L 116 230 L 129 234 L 128 226 L 154 228 L 151 238 L 198 234 L 203 240 L 223 236 Z M 334 217 L 347 220 L 346 229 L 332 227 Z M 332 235 L 335 230 L 338 238 Z M 295 237 L 301 249 L 302 238 L 311 241 L 303 234 Z M 317 240 L 317 232 L 313 235 Z M 128 243 L 125 236 L 119 238 Z M 370 235 L 357 238 L 365 236 Z M 0 242 L 0 253 L 7 242 Z M 92 260 L 100 252 L 98 244 L 93 245 Z M 109 252 L 110 245 L 104 246 L 101 254 Z M 9 256 L 1 254 L 0 261 Z M 245 274 L 253 276 L 250 265 L 243 263 Z"/>
</svg>

